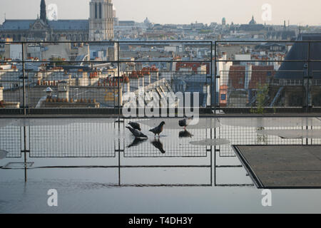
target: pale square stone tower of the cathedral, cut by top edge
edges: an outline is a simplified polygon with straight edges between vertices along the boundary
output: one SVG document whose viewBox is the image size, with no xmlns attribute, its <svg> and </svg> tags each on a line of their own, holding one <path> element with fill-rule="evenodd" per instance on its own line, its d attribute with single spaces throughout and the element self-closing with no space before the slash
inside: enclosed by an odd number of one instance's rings
<svg viewBox="0 0 321 228">
<path fill-rule="evenodd" d="M 111 0 L 91 0 L 89 39 L 91 41 L 113 39 L 113 4 Z"/>
</svg>

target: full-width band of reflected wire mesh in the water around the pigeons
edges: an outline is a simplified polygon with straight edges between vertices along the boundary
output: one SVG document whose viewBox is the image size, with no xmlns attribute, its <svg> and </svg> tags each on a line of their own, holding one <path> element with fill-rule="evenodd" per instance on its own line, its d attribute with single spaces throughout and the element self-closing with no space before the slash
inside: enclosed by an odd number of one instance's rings
<svg viewBox="0 0 321 228">
<path fill-rule="evenodd" d="M 200 123 L 211 118 L 201 118 Z M 170 118 L 125 119 L 56 118 L 1 119 L 0 150 L 8 157 L 21 157 L 22 142 L 30 157 L 116 157 L 125 158 L 235 157 L 230 145 L 319 145 L 321 120 L 318 118 L 220 118 L 218 125 L 199 125 L 183 130 Z M 148 139 L 136 139 L 125 128 L 129 121 L 141 123 Z M 165 121 L 161 137 L 149 132 L 151 122 Z M 204 123 L 209 123 L 209 122 Z M 26 128 L 26 129 L 25 129 Z M 23 132 L 26 132 L 24 138 Z M 193 145 L 203 140 L 225 140 L 224 145 Z"/>
</svg>

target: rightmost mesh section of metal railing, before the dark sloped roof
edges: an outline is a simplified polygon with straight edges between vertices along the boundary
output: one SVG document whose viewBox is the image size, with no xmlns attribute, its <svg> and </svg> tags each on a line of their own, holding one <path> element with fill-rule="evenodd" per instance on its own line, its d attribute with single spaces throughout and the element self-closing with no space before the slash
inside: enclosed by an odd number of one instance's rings
<svg viewBox="0 0 321 228">
<path fill-rule="evenodd" d="M 239 46 L 242 49 L 249 46 L 253 47 L 255 44 L 262 46 L 263 44 L 273 43 L 285 44 L 285 50 L 283 51 L 270 50 L 270 54 L 284 53 L 282 58 L 279 58 L 280 55 L 269 56 L 271 58 L 267 59 L 260 55 L 251 55 L 250 59 L 244 60 L 223 59 L 218 56 L 218 49 L 222 46 Z M 315 99 L 317 95 L 314 97 L 310 95 L 312 88 L 315 88 L 315 91 L 318 92 L 316 88 L 320 80 L 315 78 L 313 73 L 319 72 L 315 71 L 316 66 L 318 69 L 321 66 L 320 58 L 315 58 L 317 52 L 313 49 L 315 46 L 312 46 L 312 44 L 319 45 L 321 41 L 215 41 L 214 75 L 215 83 L 218 83 L 218 85 L 215 85 L 215 89 L 219 92 L 218 96 L 215 96 L 214 109 L 223 110 L 225 113 L 320 113 L 321 103 Z M 306 52 L 304 58 L 286 58 L 290 53 L 286 48 L 289 46 L 293 48 L 295 45 L 300 46 L 299 52 Z M 224 47 L 221 49 L 224 49 Z M 245 50 L 243 51 L 245 54 L 249 54 Z M 268 53 L 268 49 L 265 51 Z M 236 65 L 236 70 L 222 71 L 218 67 L 220 63 L 233 63 L 233 66 Z M 285 63 L 295 65 L 284 70 L 282 65 Z M 315 65 L 312 66 L 312 63 Z M 298 68 L 297 64 L 302 64 L 302 67 Z M 275 69 L 275 65 L 278 65 L 277 69 Z M 237 66 L 243 66 L 243 68 L 240 70 Z M 247 66 L 253 68 L 256 66 L 256 69 L 248 70 Z M 267 66 L 274 66 L 274 68 L 260 70 L 260 68 Z M 276 74 L 279 77 L 275 78 Z M 282 78 L 282 74 L 286 74 L 287 77 Z M 292 75 L 297 74 L 300 76 L 292 77 Z M 255 77 L 253 78 L 253 76 Z M 264 99 L 259 100 L 258 96 L 263 96 Z M 224 102 L 222 102 L 222 98 L 224 98 Z M 280 101 L 281 99 L 282 101 Z"/>
</svg>

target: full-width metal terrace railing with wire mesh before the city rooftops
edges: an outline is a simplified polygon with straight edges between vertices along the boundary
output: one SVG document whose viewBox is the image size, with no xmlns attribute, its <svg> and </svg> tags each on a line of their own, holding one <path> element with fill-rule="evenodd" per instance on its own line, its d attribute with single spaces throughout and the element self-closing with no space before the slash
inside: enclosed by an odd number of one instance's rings
<svg viewBox="0 0 321 228">
<path fill-rule="evenodd" d="M 136 96 L 132 105 L 146 108 L 151 93 L 176 112 L 187 106 L 212 114 L 321 111 L 321 41 L 0 43 L 11 51 L 2 55 L 13 57 L 0 61 L 1 115 L 122 116 L 128 94 Z"/>
</svg>

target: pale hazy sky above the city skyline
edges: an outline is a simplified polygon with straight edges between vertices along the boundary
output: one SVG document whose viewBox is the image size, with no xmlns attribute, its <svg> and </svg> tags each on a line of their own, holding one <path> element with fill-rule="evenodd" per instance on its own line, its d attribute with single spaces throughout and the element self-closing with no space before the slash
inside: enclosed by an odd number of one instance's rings
<svg viewBox="0 0 321 228">
<path fill-rule="evenodd" d="M 6 19 L 36 19 L 41 0 L 0 0 L 0 23 Z M 46 0 L 57 4 L 58 19 L 88 19 L 90 0 Z M 270 4 L 271 19 L 267 24 L 321 25 L 320 0 L 113 0 L 120 20 L 143 21 L 146 16 L 159 24 L 191 22 L 248 23 L 252 17 L 263 24 L 262 6 Z"/>
</svg>

